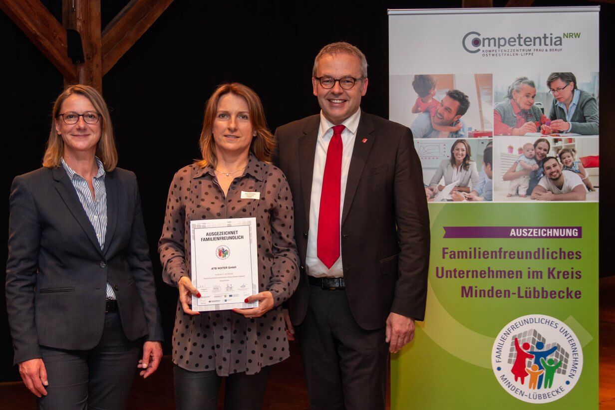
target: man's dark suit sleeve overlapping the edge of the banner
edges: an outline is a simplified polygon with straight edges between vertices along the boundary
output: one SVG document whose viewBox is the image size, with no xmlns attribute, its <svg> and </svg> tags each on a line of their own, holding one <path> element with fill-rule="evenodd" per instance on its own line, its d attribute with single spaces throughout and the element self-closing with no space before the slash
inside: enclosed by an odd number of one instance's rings
<svg viewBox="0 0 615 410">
<path fill-rule="evenodd" d="M 391 312 L 424 320 L 429 269 L 429 213 L 421 162 L 404 128 L 395 164 L 394 195 L 400 245 L 399 278 Z"/>
</svg>

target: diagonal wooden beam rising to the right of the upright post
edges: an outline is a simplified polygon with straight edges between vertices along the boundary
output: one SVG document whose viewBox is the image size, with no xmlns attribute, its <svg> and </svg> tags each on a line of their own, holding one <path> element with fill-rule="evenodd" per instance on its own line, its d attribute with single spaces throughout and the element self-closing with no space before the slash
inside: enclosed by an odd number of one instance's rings
<svg viewBox="0 0 615 410">
<path fill-rule="evenodd" d="M 113 68 L 173 0 L 131 0 L 103 31 L 103 75 Z"/>
</svg>

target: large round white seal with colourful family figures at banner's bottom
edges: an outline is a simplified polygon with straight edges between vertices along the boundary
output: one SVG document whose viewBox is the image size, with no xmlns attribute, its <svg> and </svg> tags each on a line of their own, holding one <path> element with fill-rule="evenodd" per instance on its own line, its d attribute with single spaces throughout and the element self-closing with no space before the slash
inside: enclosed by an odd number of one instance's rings
<svg viewBox="0 0 615 410">
<path fill-rule="evenodd" d="M 502 328 L 493 344 L 491 365 L 510 395 L 528 403 L 549 403 L 576 385 L 583 369 L 583 351 L 576 334 L 563 321 L 526 315 Z"/>
</svg>

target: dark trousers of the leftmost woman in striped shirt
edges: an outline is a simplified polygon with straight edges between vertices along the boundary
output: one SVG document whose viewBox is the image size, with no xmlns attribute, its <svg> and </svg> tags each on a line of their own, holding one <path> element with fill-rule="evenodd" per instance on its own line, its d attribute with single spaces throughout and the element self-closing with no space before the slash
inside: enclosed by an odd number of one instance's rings
<svg viewBox="0 0 615 410">
<path fill-rule="evenodd" d="M 47 370 L 47 396 L 41 409 L 124 409 L 137 369 L 141 341 L 126 339 L 118 312 L 105 316 L 105 330 L 92 350 L 41 346 Z"/>
</svg>

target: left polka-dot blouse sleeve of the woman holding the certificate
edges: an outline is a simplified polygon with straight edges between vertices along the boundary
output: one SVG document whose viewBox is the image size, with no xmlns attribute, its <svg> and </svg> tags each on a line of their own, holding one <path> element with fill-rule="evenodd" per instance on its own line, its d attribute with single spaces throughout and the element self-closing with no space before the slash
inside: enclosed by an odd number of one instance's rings
<svg viewBox="0 0 615 410">
<path fill-rule="evenodd" d="M 178 173 L 173 176 L 167 197 L 167 211 L 164 216 L 162 235 L 158 241 L 158 253 L 162 263 L 162 280 L 171 286 L 177 286 L 183 276 L 188 274 L 186 267 L 186 250 L 184 248 L 185 208 L 181 195 L 177 191 Z"/>
</svg>

